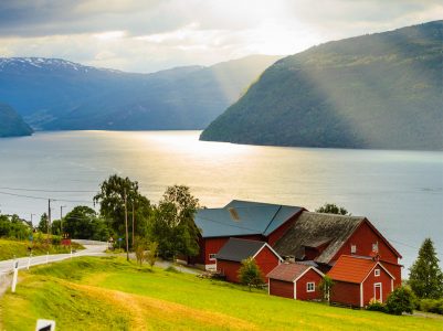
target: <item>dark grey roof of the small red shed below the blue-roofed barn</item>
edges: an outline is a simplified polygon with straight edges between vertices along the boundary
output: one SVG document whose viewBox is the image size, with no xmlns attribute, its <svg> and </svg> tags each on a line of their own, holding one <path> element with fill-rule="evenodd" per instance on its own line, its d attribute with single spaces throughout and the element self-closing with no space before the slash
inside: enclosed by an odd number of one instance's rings
<svg viewBox="0 0 443 331">
<path fill-rule="evenodd" d="M 229 238 L 215 257 L 218 259 L 242 261 L 254 256 L 264 245 L 266 245 L 264 242 Z"/>
</svg>

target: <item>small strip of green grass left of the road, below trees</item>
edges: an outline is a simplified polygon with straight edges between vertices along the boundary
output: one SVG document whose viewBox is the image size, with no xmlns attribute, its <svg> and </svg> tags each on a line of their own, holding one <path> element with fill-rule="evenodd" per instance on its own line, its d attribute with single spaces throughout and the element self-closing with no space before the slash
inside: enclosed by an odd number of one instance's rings
<svg viewBox="0 0 443 331">
<path fill-rule="evenodd" d="M 30 243 L 28 241 L 0 239 L 0 260 L 28 256 L 29 245 Z M 73 243 L 73 248 L 82 249 L 83 246 Z M 50 254 L 70 253 L 70 248 L 54 245 L 50 245 L 49 247 L 44 245 L 33 245 L 32 255 L 44 255 L 46 252 Z"/>
</svg>

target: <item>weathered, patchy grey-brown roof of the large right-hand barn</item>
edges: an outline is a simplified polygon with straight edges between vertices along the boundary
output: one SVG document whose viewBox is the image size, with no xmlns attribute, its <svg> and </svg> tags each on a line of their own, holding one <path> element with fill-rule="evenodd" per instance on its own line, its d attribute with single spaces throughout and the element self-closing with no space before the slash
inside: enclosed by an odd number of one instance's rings
<svg viewBox="0 0 443 331">
<path fill-rule="evenodd" d="M 274 245 L 281 256 L 294 256 L 303 259 L 305 247 L 327 247 L 315 259 L 328 264 L 365 217 L 335 214 L 312 213 L 304 211 L 292 226 Z"/>
</svg>

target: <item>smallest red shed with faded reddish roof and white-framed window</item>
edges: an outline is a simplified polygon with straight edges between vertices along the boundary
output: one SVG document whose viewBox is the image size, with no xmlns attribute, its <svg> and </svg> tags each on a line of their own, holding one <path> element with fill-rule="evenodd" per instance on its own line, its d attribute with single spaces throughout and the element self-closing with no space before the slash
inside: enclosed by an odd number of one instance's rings
<svg viewBox="0 0 443 331">
<path fill-rule="evenodd" d="M 321 298 L 318 288 L 325 275 L 300 263 L 281 264 L 267 274 L 268 293 L 297 300 L 317 300 Z"/>
</svg>

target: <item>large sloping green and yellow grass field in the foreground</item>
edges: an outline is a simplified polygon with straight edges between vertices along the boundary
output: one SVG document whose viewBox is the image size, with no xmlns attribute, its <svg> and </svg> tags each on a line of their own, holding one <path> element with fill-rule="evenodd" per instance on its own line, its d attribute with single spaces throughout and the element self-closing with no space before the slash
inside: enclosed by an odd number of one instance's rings
<svg viewBox="0 0 443 331">
<path fill-rule="evenodd" d="M 443 321 L 270 297 L 265 291 L 119 257 L 76 258 L 20 274 L 0 301 L 0 330 L 443 330 Z"/>
</svg>

